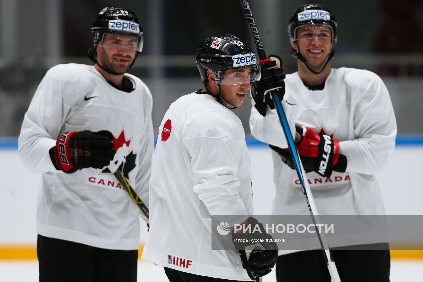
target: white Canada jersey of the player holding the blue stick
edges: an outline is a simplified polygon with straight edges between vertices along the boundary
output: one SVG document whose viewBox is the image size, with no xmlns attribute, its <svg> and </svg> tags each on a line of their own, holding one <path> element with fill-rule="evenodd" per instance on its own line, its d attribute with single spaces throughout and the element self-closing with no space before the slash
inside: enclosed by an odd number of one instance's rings
<svg viewBox="0 0 423 282">
<path fill-rule="evenodd" d="M 311 91 L 298 73 L 287 75 L 283 107 L 294 124 L 310 127 L 339 141 L 347 158 L 346 172 L 330 177 L 307 173 L 317 209 L 322 215 L 384 214 L 375 173 L 382 170 L 395 147 L 397 133 L 392 103 L 385 84 L 373 72 L 332 69 L 323 90 Z M 254 103 L 254 101 L 253 101 Z M 286 148 L 277 113 L 267 108 L 261 116 L 253 106 L 250 116 L 255 138 Z M 297 173 L 272 151 L 276 196 L 273 214 L 309 214 Z"/>
</svg>

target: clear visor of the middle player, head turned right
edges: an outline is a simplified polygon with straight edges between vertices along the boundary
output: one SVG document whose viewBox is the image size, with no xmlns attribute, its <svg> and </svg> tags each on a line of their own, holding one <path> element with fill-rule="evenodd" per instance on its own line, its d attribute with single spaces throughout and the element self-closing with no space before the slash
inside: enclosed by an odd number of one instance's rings
<svg viewBox="0 0 423 282">
<path fill-rule="evenodd" d="M 261 69 L 259 64 L 236 69 L 218 69 L 214 71 L 214 78 L 220 85 L 236 85 L 259 81 Z"/>
</svg>

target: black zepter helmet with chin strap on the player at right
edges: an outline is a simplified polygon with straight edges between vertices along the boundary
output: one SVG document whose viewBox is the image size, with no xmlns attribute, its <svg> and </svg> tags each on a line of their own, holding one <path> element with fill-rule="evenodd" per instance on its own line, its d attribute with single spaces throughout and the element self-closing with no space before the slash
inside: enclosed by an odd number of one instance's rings
<svg viewBox="0 0 423 282">
<path fill-rule="evenodd" d="M 297 8 L 297 10 L 294 11 L 294 14 L 292 14 L 291 19 L 289 19 L 289 23 L 288 23 L 289 38 L 290 38 L 290 41 L 294 42 L 294 44 L 296 45 L 297 45 L 296 43 L 297 29 L 304 25 L 311 25 L 311 26 L 327 25 L 332 30 L 332 40 L 334 41 L 334 44 L 338 40 L 338 23 L 336 22 L 336 19 L 333 16 L 333 14 L 329 11 L 328 8 L 320 4 L 303 5 Z M 301 53 L 299 53 L 298 46 L 297 46 L 297 50 L 292 48 L 291 54 L 294 56 L 294 58 L 297 58 L 300 61 L 304 62 L 305 65 L 308 67 L 308 69 L 310 69 L 309 66 L 306 64 L 305 59 L 303 58 Z M 332 46 L 332 50 L 330 52 L 330 55 L 326 64 L 329 62 L 330 59 L 333 58 L 334 54 L 335 54 L 335 51 L 333 50 L 333 46 Z M 311 69 L 310 71 L 316 74 L 320 73 L 320 72 L 315 72 Z"/>
</svg>

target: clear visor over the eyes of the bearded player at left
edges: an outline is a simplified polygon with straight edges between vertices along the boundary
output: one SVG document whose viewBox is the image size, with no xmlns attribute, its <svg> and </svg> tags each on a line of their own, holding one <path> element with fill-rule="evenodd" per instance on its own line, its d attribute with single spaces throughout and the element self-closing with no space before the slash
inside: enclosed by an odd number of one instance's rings
<svg viewBox="0 0 423 282">
<path fill-rule="evenodd" d="M 141 52 L 143 50 L 143 36 L 130 36 L 124 34 L 104 33 L 102 41 L 98 44 L 100 47 L 123 48 Z"/>
</svg>

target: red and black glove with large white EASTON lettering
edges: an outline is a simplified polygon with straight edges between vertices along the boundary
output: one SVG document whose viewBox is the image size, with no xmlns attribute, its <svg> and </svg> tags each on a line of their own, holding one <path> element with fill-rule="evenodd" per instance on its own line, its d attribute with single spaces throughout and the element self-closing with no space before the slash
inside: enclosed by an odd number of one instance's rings
<svg viewBox="0 0 423 282">
<path fill-rule="evenodd" d="M 339 154 L 339 142 L 328 135 L 318 135 L 308 127 L 296 126 L 295 143 L 306 172 L 316 171 L 322 177 L 330 177 L 332 171 L 346 170 L 346 157 Z M 284 163 L 295 169 L 288 149 L 269 145 L 281 156 Z"/>
</svg>

